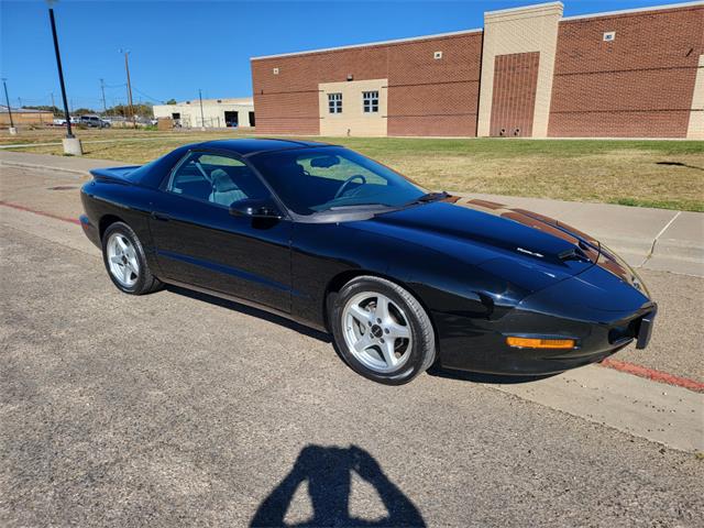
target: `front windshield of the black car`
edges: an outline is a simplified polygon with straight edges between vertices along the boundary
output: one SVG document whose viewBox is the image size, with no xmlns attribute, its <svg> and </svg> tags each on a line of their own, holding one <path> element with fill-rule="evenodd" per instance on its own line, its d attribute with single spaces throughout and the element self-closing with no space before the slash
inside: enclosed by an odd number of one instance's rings
<svg viewBox="0 0 704 528">
<path fill-rule="evenodd" d="M 426 194 L 391 168 L 338 146 L 262 153 L 251 162 L 298 215 L 397 207 Z"/>
</svg>

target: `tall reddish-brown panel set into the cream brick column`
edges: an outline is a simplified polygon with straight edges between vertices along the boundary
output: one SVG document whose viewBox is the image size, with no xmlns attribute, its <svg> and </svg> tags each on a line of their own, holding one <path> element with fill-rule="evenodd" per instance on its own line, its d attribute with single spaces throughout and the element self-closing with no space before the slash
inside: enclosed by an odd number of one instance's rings
<svg viewBox="0 0 704 528">
<path fill-rule="evenodd" d="M 539 52 L 496 56 L 490 135 L 531 136 L 539 63 Z"/>
</svg>

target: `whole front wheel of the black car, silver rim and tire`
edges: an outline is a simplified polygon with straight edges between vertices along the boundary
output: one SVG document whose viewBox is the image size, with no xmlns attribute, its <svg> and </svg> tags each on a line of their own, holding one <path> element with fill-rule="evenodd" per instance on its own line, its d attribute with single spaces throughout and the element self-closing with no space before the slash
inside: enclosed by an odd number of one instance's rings
<svg viewBox="0 0 704 528">
<path fill-rule="evenodd" d="M 432 324 L 418 300 L 380 277 L 350 280 L 330 308 L 338 350 L 358 373 L 400 385 L 428 370 L 436 359 Z"/>
</svg>

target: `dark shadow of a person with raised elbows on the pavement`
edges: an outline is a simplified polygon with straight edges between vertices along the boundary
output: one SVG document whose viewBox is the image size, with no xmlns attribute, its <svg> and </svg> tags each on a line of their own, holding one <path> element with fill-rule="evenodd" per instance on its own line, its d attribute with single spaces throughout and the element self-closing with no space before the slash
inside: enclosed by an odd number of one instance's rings
<svg viewBox="0 0 704 528">
<path fill-rule="evenodd" d="M 387 515 L 381 519 L 364 519 L 350 515 L 352 474 L 372 485 Z M 287 522 L 286 514 L 298 487 L 308 483 L 312 517 L 301 522 Z M 326 448 L 306 446 L 290 472 L 260 504 L 251 527 L 425 527 L 418 508 L 388 480 L 374 458 L 356 446 Z"/>
</svg>

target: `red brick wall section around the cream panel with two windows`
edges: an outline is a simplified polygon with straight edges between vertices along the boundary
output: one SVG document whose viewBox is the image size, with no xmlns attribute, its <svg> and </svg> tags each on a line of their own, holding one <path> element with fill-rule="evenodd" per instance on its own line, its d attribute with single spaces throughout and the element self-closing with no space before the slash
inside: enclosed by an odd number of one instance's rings
<svg viewBox="0 0 704 528">
<path fill-rule="evenodd" d="M 318 134 L 318 84 L 352 74 L 388 79 L 388 135 L 475 135 L 481 48 L 469 33 L 252 61 L 257 132 Z"/>
</svg>

